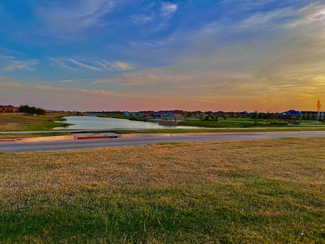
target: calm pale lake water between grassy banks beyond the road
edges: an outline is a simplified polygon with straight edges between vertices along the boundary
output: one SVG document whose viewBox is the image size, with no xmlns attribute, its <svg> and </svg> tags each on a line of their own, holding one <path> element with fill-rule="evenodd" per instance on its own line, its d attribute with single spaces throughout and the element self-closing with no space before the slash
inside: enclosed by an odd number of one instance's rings
<svg viewBox="0 0 325 244">
<path fill-rule="evenodd" d="M 104 118 L 96 116 L 69 116 L 64 123 L 67 127 L 55 127 L 54 130 L 106 130 L 106 129 L 195 129 L 199 127 L 163 126 L 158 123 L 134 121 L 121 118 Z"/>
</svg>

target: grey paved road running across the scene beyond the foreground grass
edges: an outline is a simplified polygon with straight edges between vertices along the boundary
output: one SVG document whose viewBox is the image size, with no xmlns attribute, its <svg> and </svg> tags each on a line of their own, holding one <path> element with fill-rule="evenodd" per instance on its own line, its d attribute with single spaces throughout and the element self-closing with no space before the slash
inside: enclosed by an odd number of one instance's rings
<svg viewBox="0 0 325 244">
<path fill-rule="evenodd" d="M 131 145 L 147 145 L 159 142 L 197 142 L 197 141 L 222 141 L 222 140 L 247 140 L 247 139 L 269 139 L 282 137 L 325 137 L 325 132 L 317 133 L 272 133 L 272 134 L 231 134 L 231 135 L 177 135 L 161 137 L 129 137 L 129 138 L 107 138 L 91 140 L 58 140 L 41 142 L 0 142 L 0 151 L 50 151 L 68 149 L 88 149 L 101 147 L 117 147 Z"/>
</svg>

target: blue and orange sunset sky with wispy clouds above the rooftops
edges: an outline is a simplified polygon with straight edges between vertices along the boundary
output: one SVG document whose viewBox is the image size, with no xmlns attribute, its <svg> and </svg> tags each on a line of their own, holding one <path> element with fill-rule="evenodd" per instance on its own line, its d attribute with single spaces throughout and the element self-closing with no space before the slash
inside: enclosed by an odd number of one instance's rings
<svg viewBox="0 0 325 244">
<path fill-rule="evenodd" d="M 316 111 L 324 68 L 325 1 L 0 2 L 0 105 Z"/>
</svg>

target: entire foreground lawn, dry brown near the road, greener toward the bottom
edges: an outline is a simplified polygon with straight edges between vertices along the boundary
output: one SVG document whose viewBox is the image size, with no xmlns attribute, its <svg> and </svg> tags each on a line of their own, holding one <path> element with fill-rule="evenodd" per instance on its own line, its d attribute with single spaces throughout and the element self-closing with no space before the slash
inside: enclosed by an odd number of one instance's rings
<svg viewBox="0 0 325 244">
<path fill-rule="evenodd" d="M 0 154 L 1 243 L 325 243 L 325 138 Z"/>
</svg>

